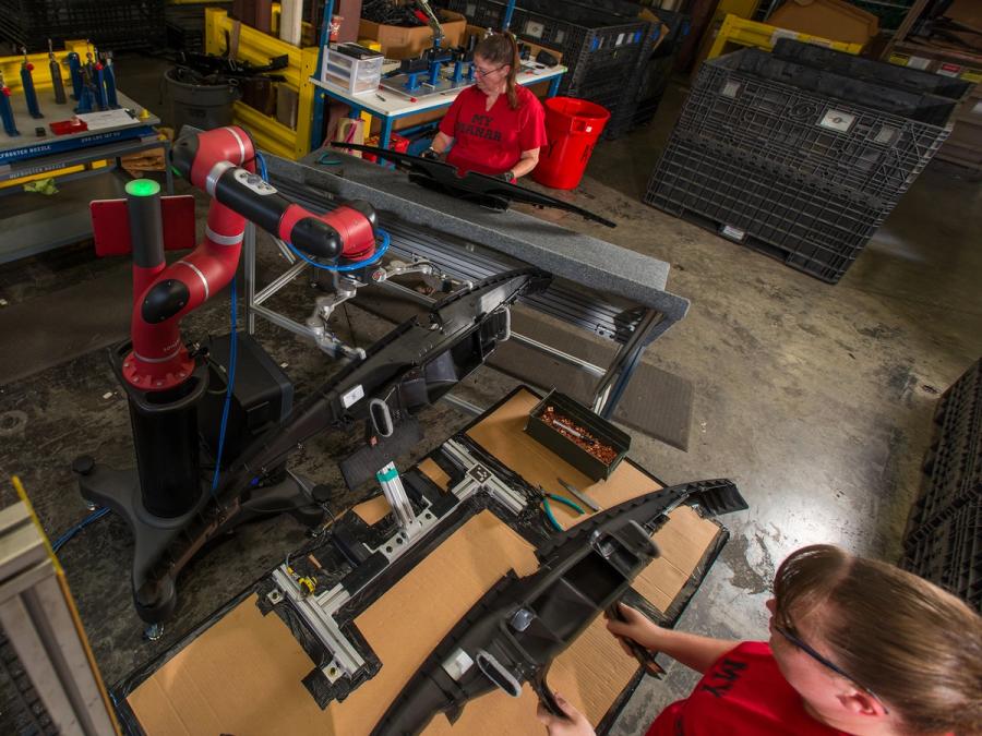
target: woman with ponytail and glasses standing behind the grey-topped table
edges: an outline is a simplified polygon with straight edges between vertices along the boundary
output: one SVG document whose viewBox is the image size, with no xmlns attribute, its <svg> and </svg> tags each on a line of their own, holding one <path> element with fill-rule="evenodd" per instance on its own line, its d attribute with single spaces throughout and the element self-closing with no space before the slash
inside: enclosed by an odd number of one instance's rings
<svg viewBox="0 0 982 736">
<path fill-rule="evenodd" d="M 462 172 L 514 181 L 539 162 L 546 145 L 546 113 L 538 98 L 515 82 L 520 68 L 512 34 L 492 34 L 474 49 L 475 84 L 457 95 L 433 145 L 423 156 L 446 157 Z"/>
</svg>

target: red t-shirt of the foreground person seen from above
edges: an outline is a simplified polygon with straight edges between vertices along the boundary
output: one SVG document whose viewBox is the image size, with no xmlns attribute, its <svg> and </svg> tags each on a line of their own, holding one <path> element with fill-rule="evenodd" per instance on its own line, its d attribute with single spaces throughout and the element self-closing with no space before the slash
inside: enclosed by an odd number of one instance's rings
<svg viewBox="0 0 982 736">
<path fill-rule="evenodd" d="M 745 641 L 709 667 L 685 700 L 666 708 L 647 736 L 846 736 L 809 715 L 770 647 Z"/>
</svg>

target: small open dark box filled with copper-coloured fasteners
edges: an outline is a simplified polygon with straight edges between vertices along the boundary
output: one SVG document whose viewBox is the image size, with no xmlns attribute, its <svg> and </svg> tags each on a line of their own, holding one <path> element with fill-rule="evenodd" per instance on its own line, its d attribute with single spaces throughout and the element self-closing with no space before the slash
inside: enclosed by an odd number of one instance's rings
<svg viewBox="0 0 982 736">
<path fill-rule="evenodd" d="M 556 414 L 572 419 L 578 426 L 587 430 L 598 442 L 616 450 L 618 455 L 614 460 L 610 464 L 604 464 L 555 426 L 542 421 L 542 412 L 548 407 L 552 407 Z M 621 460 L 627 456 L 627 450 L 631 449 L 631 435 L 594 413 L 576 399 L 556 390 L 550 391 L 529 412 L 525 431 L 540 445 L 555 453 L 594 481 L 606 481 L 610 478 L 610 474 L 616 469 Z"/>
</svg>

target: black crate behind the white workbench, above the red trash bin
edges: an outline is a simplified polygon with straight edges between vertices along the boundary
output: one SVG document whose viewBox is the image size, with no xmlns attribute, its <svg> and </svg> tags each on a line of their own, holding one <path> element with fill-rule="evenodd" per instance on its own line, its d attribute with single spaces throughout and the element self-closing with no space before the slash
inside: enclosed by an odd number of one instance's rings
<svg viewBox="0 0 982 736">
<path fill-rule="evenodd" d="M 444 0 L 443 7 L 488 28 L 502 27 L 505 17 L 505 3 L 496 0 Z M 625 14 L 628 8 L 633 17 Z M 652 24 L 637 20 L 637 10 L 616 0 L 597 7 L 520 0 L 508 27 L 519 40 L 562 52 L 568 71 L 559 94 L 601 105 L 613 117 L 626 104 L 627 84 L 651 35 Z"/>
</svg>

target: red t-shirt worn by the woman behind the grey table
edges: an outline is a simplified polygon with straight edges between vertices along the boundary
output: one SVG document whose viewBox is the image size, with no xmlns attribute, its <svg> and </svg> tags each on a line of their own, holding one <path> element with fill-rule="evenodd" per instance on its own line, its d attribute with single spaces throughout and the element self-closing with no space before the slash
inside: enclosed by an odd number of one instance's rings
<svg viewBox="0 0 982 736">
<path fill-rule="evenodd" d="M 515 166 L 523 150 L 546 145 L 542 104 L 520 85 L 515 92 L 515 110 L 505 94 L 499 95 L 490 110 L 486 109 L 488 97 L 477 86 L 457 95 L 440 121 L 440 132 L 454 138 L 447 164 L 462 172 L 503 173 Z"/>
</svg>

